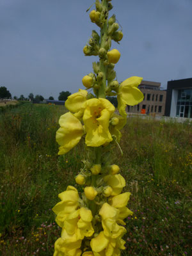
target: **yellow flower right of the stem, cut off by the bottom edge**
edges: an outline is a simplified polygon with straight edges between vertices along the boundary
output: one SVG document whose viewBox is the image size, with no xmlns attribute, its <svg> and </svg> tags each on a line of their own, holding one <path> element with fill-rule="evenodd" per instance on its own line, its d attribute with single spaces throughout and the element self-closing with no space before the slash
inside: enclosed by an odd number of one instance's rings
<svg viewBox="0 0 192 256">
<path fill-rule="evenodd" d="M 103 231 L 90 243 L 94 256 L 120 256 L 120 249 L 125 249 L 124 244 L 125 241 L 121 237 L 106 237 Z"/>
</svg>

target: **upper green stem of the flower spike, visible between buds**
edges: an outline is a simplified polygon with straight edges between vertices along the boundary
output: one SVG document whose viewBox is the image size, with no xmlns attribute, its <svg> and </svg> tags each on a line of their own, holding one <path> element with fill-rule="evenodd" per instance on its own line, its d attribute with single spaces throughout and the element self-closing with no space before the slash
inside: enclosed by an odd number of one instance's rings
<svg viewBox="0 0 192 256">
<path fill-rule="evenodd" d="M 108 10 L 108 1 L 103 0 L 102 6 L 106 7 Z M 106 22 L 104 22 L 103 27 L 100 29 L 100 48 L 104 48 L 104 43 L 106 42 L 108 36 L 108 19 L 106 19 Z M 106 97 L 106 73 L 107 73 L 107 67 L 104 65 L 104 60 L 100 59 L 99 64 L 100 72 L 103 72 L 104 76 L 102 79 L 102 83 L 100 84 L 99 92 L 98 92 L 98 98 L 105 98 Z"/>
</svg>

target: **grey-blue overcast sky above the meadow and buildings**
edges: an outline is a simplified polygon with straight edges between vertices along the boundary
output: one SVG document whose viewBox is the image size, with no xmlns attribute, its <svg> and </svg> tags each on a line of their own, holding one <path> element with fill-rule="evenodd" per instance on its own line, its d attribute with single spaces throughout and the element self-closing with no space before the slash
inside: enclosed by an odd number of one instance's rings
<svg viewBox="0 0 192 256">
<path fill-rule="evenodd" d="M 77 92 L 97 56 L 84 56 L 92 29 L 93 0 L 0 0 L 0 86 L 12 97 L 29 93 L 58 99 Z M 112 0 L 110 16 L 124 38 L 115 66 L 118 81 L 130 76 L 160 82 L 192 77 L 192 0 Z M 93 8 L 93 7 L 92 7 Z M 92 9 L 91 9 L 92 10 Z"/>
</svg>

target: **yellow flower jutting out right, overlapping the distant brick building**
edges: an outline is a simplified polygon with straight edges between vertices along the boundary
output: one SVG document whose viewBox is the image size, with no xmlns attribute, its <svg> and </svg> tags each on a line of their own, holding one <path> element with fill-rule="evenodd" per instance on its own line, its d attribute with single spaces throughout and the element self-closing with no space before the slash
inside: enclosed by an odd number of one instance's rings
<svg viewBox="0 0 192 256">
<path fill-rule="evenodd" d="M 132 76 L 120 84 L 117 95 L 120 115 L 127 116 L 126 105 L 134 106 L 143 100 L 143 93 L 138 89 L 142 79 L 142 77 Z"/>
</svg>

